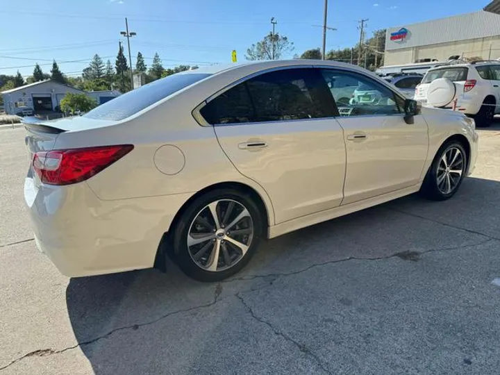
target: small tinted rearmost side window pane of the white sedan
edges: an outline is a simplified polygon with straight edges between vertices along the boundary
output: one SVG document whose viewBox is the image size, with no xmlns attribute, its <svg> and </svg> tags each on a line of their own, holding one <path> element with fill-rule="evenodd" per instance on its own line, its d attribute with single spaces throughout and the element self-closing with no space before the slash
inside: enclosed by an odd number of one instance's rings
<svg viewBox="0 0 500 375">
<path fill-rule="evenodd" d="M 244 83 L 210 101 L 201 108 L 200 114 L 209 124 L 238 124 L 255 120 L 253 104 Z"/>
</svg>

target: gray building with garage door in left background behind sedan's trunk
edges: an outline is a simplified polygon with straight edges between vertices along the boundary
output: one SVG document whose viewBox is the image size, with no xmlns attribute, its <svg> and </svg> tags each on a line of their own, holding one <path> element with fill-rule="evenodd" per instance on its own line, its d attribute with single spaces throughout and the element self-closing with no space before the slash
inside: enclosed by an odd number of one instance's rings
<svg viewBox="0 0 500 375">
<path fill-rule="evenodd" d="M 116 90 L 86 92 L 50 79 L 6 90 L 1 94 L 6 113 L 8 115 L 22 115 L 55 112 L 59 109 L 60 101 L 68 92 L 87 94 L 98 104 L 106 103 L 120 94 Z"/>
</svg>

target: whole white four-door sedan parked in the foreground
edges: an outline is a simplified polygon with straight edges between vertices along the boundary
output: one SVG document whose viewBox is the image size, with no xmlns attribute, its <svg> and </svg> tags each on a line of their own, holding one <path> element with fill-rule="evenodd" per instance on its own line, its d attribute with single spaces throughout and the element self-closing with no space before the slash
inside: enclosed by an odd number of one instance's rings
<svg viewBox="0 0 500 375">
<path fill-rule="evenodd" d="M 340 116 L 326 83 L 339 75 L 381 100 Z M 414 192 L 448 199 L 478 144 L 474 120 L 311 60 L 174 74 L 26 129 L 24 198 L 60 272 L 161 269 L 172 252 L 202 281 L 238 272 L 263 238 Z"/>
</svg>

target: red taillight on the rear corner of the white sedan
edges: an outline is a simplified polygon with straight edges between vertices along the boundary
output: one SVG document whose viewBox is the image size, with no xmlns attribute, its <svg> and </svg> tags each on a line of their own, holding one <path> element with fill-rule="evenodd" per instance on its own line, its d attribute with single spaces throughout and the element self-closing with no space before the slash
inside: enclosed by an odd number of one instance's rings
<svg viewBox="0 0 500 375">
<path fill-rule="evenodd" d="M 40 151 L 33 156 L 33 169 L 42 183 L 69 185 L 85 181 L 132 151 L 132 144 Z"/>
</svg>

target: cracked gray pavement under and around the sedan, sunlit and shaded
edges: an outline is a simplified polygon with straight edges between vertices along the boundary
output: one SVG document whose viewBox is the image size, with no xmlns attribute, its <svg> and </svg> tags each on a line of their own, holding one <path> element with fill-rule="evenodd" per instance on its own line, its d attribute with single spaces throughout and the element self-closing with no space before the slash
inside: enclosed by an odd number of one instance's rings
<svg viewBox="0 0 500 375">
<path fill-rule="evenodd" d="M 453 199 L 283 235 L 240 274 L 59 274 L 33 242 L 24 129 L 0 130 L 0 375 L 499 374 L 500 124 Z"/>
</svg>

